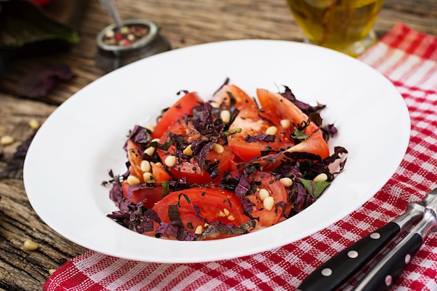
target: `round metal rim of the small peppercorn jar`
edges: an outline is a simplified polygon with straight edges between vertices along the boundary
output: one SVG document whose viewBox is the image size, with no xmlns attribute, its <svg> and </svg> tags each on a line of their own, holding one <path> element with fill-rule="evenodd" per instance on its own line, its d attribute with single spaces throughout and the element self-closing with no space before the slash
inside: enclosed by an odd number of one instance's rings
<svg viewBox="0 0 437 291">
<path fill-rule="evenodd" d="M 117 44 L 112 45 L 112 44 L 105 43 L 103 41 L 105 39 L 105 36 L 107 36 L 108 31 L 115 31 L 117 29 L 117 24 L 111 24 L 108 27 L 105 27 L 105 29 L 103 29 L 100 33 L 98 33 L 96 37 L 97 46 L 101 50 L 105 50 L 108 52 L 128 52 L 131 50 L 137 50 L 141 47 L 145 47 L 149 45 L 149 43 L 151 43 L 156 38 L 159 31 L 156 24 L 154 24 L 154 22 L 151 22 L 149 20 L 136 20 L 136 19 L 124 20 L 122 24 L 123 27 L 129 27 L 133 25 L 138 25 L 140 27 L 147 27 L 149 31 L 147 32 L 147 34 L 145 34 L 145 36 L 142 36 L 141 38 L 132 41 L 128 45 L 117 45 Z M 119 29 L 121 29 L 121 27 L 119 27 Z"/>
</svg>

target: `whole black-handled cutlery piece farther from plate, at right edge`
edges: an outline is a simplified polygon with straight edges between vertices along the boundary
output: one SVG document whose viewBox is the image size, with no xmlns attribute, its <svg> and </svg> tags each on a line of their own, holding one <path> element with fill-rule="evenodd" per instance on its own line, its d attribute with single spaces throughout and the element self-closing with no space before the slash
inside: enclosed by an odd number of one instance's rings
<svg viewBox="0 0 437 291">
<path fill-rule="evenodd" d="M 429 232 L 436 229 L 436 211 L 437 197 L 434 197 L 426 205 L 422 220 L 391 251 L 384 255 L 378 264 L 371 268 L 369 273 L 355 285 L 353 291 L 390 290 L 397 278 L 401 276 L 403 269 L 419 251 Z"/>
</svg>

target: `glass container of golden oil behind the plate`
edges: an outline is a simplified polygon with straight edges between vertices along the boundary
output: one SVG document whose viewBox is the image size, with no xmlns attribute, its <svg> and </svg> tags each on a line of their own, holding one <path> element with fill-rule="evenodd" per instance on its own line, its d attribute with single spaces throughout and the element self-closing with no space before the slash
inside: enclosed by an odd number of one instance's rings
<svg viewBox="0 0 437 291">
<path fill-rule="evenodd" d="M 306 41 L 357 57 L 376 42 L 384 0 L 287 0 Z"/>
</svg>

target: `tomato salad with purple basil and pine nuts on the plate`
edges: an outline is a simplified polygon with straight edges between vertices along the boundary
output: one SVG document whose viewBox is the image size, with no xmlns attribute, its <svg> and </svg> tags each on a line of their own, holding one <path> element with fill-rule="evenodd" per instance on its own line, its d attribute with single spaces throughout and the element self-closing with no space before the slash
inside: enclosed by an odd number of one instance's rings
<svg viewBox="0 0 437 291">
<path fill-rule="evenodd" d="M 154 237 L 218 239 L 280 223 L 320 197 L 347 154 L 329 153 L 336 128 L 322 123 L 325 105 L 288 87 L 255 99 L 228 81 L 207 101 L 179 92 L 153 130 L 130 131 L 126 173 L 103 182 L 119 208 L 108 217 Z"/>
</svg>

